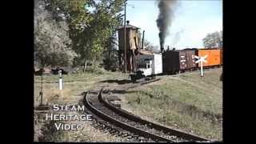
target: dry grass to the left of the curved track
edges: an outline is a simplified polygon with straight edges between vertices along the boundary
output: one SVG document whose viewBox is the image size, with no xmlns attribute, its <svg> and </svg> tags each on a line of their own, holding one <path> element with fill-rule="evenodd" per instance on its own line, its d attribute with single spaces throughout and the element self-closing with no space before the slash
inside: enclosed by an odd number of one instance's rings
<svg viewBox="0 0 256 144">
<path fill-rule="evenodd" d="M 107 79 L 128 78 L 127 74 L 113 73 L 104 71 L 104 73 L 80 73 L 63 75 L 63 90 L 58 90 L 58 75 L 43 75 L 43 103 L 49 104 L 69 104 L 77 105 L 83 98 L 82 92 L 85 90 L 94 90 L 100 86 L 101 81 Z M 41 90 L 41 76 L 34 76 L 34 106 L 38 106 L 40 98 L 38 97 Z M 34 112 L 35 117 L 40 114 Z M 34 118 L 37 121 L 37 118 Z M 113 142 L 121 141 L 110 134 L 102 134 L 84 122 L 84 130 L 52 130 L 54 122 L 40 121 L 35 124 L 35 140 L 43 142 Z M 73 121 L 72 121 L 73 122 Z"/>
</svg>

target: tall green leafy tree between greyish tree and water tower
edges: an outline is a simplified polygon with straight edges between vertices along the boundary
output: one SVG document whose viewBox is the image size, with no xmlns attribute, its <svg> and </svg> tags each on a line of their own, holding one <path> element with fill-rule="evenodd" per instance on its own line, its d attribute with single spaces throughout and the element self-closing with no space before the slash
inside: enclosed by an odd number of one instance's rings
<svg viewBox="0 0 256 144">
<path fill-rule="evenodd" d="M 122 23 L 122 0 L 46 0 L 56 20 L 65 18 L 78 63 L 102 60 L 102 52 Z M 90 11 L 92 9 L 93 11 Z"/>
</svg>

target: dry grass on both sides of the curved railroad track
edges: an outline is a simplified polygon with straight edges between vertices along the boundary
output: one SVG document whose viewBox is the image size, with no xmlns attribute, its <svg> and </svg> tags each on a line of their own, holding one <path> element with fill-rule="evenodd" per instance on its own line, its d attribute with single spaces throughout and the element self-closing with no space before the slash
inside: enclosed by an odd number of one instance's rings
<svg viewBox="0 0 256 144">
<path fill-rule="evenodd" d="M 151 118 L 167 126 L 186 130 L 206 138 L 222 140 L 222 69 L 159 76 L 160 81 L 127 90 L 126 102 L 142 118 Z M 43 76 L 43 102 L 76 105 L 85 90 L 94 90 L 105 80 L 128 78 L 119 72 L 63 75 L 64 90 L 58 90 L 58 75 Z M 110 83 L 108 85 L 113 85 Z M 38 106 L 41 77 L 34 77 L 34 106 Z M 46 126 L 52 126 L 46 123 Z M 85 123 L 82 131 L 55 131 L 45 140 L 54 142 L 115 141 Z M 48 139 L 47 139 L 48 138 Z"/>
</svg>

